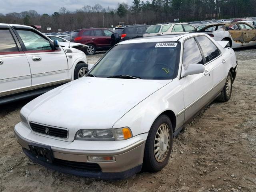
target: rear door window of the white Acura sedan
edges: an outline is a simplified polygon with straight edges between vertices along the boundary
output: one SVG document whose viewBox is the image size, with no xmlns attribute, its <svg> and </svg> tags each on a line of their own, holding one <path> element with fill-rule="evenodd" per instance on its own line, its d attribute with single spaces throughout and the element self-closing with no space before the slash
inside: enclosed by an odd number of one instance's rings
<svg viewBox="0 0 256 192">
<path fill-rule="evenodd" d="M 206 62 L 210 62 L 220 55 L 218 48 L 214 45 L 214 43 L 205 36 L 196 37 L 199 45 L 201 46 Z"/>
</svg>

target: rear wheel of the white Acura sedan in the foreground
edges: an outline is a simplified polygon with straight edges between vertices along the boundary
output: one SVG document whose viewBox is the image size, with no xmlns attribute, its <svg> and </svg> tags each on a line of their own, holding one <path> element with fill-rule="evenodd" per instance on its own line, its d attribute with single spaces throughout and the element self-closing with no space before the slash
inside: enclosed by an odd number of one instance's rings
<svg viewBox="0 0 256 192">
<path fill-rule="evenodd" d="M 231 74 L 231 72 L 228 72 L 225 86 L 222 89 L 220 96 L 217 97 L 218 101 L 227 102 L 230 99 L 231 93 L 232 93 L 232 84 L 233 84 L 232 74 Z"/>
</svg>

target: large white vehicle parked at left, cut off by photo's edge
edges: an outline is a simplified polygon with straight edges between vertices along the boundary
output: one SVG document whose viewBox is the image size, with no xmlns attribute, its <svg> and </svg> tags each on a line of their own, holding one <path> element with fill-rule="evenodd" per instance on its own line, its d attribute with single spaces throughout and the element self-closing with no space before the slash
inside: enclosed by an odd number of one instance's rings
<svg viewBox="0 0 256 192">
<path fill-rule="evenodd" d="M 0 104 L 42 94 L 84 76 L 86 55 L 30 26 L 0 23 Z"/>
</svg>

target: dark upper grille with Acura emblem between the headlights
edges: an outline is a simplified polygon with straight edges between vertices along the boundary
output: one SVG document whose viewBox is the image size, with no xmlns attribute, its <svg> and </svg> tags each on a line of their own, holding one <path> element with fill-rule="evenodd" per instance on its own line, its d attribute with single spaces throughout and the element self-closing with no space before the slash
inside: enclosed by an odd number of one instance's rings
<svg viewBox="0 0 256 192">
<path fill-rule="evenodd" d="M 30 127 L 34 132 L 38 132 L 41 134 L 59 137 L 59 138 L 68 138 L 68 130 L 60 129 L 60 128 L 53 128 L 50 126 L 44 126 L 40 124 L 35 124 L 30 122 Z"/>
</svg>

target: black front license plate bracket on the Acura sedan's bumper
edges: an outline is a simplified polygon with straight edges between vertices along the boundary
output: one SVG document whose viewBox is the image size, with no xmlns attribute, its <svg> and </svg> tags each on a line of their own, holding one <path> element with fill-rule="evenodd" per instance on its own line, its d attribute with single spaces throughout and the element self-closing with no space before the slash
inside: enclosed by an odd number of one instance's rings
<svg viewBox="0 0 256 192">
<path fill-rule="evenodd" d="M 28 145 L 32 154 L 44 162 L 52 163 L 53 155 L 50 146 L 31 143 Z"/>
</svg>

